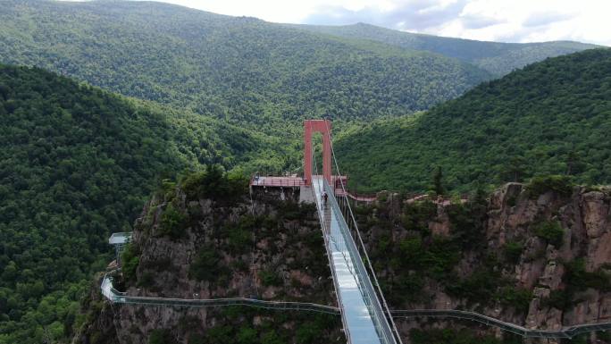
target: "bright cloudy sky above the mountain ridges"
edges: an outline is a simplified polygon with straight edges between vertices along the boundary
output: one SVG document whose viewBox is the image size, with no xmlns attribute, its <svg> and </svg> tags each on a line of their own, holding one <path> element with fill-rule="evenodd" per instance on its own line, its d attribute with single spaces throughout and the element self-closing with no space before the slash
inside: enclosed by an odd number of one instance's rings
<svg viewBox="0 0 611 344">
<path fill-rule="evenodd" d="M 611 46 L 610 0 L 163 0 L 264 21 L 389 29 L 499 42 Z"/>
</svg>

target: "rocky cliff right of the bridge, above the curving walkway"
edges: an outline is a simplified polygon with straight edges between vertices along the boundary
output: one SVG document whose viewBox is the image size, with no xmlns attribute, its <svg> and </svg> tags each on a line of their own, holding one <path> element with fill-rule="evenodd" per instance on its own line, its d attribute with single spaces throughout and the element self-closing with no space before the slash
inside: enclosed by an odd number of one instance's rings
<svg viewBox="0 0 611 344">
<path fill-rule="evenodd" d="M 540 179 L 465 204 L 389 195 L 358 213 L 391 308 L 558 329 L 611 321 L 610 208 L 611 189 Z M 423 326 L 399 323 L 405 333 Z"/>
</svg>

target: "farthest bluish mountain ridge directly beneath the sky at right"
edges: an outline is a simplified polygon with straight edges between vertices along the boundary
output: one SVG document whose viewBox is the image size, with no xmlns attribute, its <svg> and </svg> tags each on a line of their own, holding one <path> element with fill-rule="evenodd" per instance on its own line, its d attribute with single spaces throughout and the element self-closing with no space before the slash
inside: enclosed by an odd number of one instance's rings
<svg viewBox="0 0 611 344">
<path fill-rule="evenodd" d="M 591 44 L 571 41 L 521 44 L 445 38 L 385 29 L 364 23 L 346 26 L 292 26 L 343 38 L 371 39 L 409 50 L 428 51 L 448 57 L 455 57 L 490 71 L 494 76 L 505 75 L 527 64 L 541 61 L 546 57 L 565 55 L 597 47 Z"/>
</svg>

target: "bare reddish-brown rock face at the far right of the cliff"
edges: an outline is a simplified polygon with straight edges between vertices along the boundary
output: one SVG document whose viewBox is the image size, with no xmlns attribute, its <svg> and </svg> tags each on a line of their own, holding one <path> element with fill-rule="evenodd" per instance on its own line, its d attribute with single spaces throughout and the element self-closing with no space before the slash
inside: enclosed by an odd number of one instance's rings
<svg viewBox="0 0 611 344">
<path fill-rule="evenodd" d="M 609 194 L 608 189 L 575 189 L 566 197 L 547 192 L 531 199 L 523 185 L 508 184 L 491 197 L 486 223 L 489 249 L 500 250 L 509 240 L 525 239 L 514 276 L 516 285 L 532 290 L 523 319 L 527 326 L 557 329 L 611 320 Z M 560 223 L 561 245 L 531 235 L 531 224 L 541 219 Z M 581 288 L 574 288 L 579 283 Z M 558 296 L 570 299 L 554 303 Z"/>
</svg>

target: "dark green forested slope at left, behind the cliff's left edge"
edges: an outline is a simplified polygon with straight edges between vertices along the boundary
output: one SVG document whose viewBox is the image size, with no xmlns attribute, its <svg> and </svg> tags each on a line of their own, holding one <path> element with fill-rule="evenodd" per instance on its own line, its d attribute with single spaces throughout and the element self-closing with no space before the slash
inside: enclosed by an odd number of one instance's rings
<svg viewBox="0 0 611 344">
<path fill-rule="evenodd" d="M 131 228 L 161 179 L 262 154 L 266 139 L 0 65 L 0 343 L 68 334 L 109 233 Z"/>
</svg>

